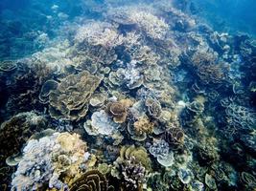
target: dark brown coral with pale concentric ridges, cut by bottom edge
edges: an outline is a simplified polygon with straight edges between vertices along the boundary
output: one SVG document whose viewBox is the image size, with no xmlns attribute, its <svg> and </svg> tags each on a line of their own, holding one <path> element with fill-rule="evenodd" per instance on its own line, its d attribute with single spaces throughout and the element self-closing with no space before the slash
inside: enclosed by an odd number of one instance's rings
<svg viewBox="0 0 256 191">
<path fill-rule="evenodd" d="M 70 187 L 70 191 L 112 191 L 113 186 L 108 186 L 105 176 L 98 170 L 90 170 L 75 180 Z"/>
</svg>

